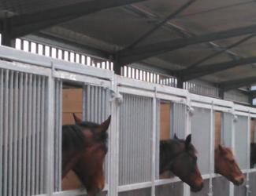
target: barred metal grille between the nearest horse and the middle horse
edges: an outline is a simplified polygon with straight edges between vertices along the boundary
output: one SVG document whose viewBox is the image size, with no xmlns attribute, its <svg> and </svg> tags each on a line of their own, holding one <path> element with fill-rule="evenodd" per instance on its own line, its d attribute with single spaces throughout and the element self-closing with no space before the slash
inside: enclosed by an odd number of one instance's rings
<svg viewBox="0 0 256 196">
<path fill-rule="evenodd" d="M 151 180 L 152 111 L 152 98 L 123 94 L 119 186 Z"/>
</svg>

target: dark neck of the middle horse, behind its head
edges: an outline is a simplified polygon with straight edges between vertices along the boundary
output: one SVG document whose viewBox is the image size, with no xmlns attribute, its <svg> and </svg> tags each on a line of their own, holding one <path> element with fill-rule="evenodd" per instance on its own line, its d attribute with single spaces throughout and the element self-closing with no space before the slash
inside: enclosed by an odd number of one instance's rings
<svg viewBox="0 0 256 196">
<path fill-rule="evenodd" d="M 177 140 L 160 141 L 160 173 L 169 170 L 174 158 L 184 151 L 184 147 Z"/>
</svg>

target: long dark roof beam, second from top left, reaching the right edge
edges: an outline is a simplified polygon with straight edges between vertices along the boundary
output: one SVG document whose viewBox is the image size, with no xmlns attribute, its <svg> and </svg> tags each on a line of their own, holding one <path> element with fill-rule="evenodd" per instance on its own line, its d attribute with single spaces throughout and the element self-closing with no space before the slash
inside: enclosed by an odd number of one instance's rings
<svg viewBox="0 0 256 196">
<path fill-rule="evenodd" d="M 169 42 L 159 42 L 151 45 L 144 45 L 137 47 L 135 49 L 124 49 L 121 50 L 120 55 L 120 64 L 132 64 L 139 60 L 144 60 L 152 56 L 157 56 L 162 53 L 168 53 L 170 51 L 184 48 L 188 45 L 196 45 L 205 42 L 213 42 L 225 38 L 233 38 L 236 36 L 241 36 L 245 34 L 254 34 L 256 32 L 256 24 L 234 28 L 228 31 L 221 31 L 211 34 L 198 35 L 193 38 L 180 38 Z"/>
</svg>

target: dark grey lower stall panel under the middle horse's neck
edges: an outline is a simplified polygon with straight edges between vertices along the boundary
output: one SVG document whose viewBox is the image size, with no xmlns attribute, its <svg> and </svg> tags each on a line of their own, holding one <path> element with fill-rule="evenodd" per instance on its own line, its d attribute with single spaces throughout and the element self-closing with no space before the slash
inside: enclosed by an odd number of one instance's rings
<svg viewBox="0 0 256 196">
<path fill-rule="evenodd" d="M 182 182 L 165 184 L 155 187 L 155 196 L 166 196 L 166 195 L 184 195 L 184 185 Z"/>
</svg>

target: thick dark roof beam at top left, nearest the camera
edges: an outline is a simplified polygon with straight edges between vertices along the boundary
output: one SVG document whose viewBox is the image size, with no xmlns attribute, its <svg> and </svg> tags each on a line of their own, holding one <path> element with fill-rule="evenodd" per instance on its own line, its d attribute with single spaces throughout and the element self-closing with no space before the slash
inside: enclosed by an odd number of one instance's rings
<svg viewBox="0 0 256 196">
<path fill-rule="evenodd" d="M 117 6 L 144 2 L 147 0 L 90 0 L 78 2 L 72 5 L 63 5 L 57 8 L 42 10 L 35 13 L 25 13 L 23 15 L 9 18 L 11 24 L 11 37 L 17 38 L 32 32 L 63 23 L 68 20 L 96 13 L 102 9 L 111 9 Z"/>
</svg>

